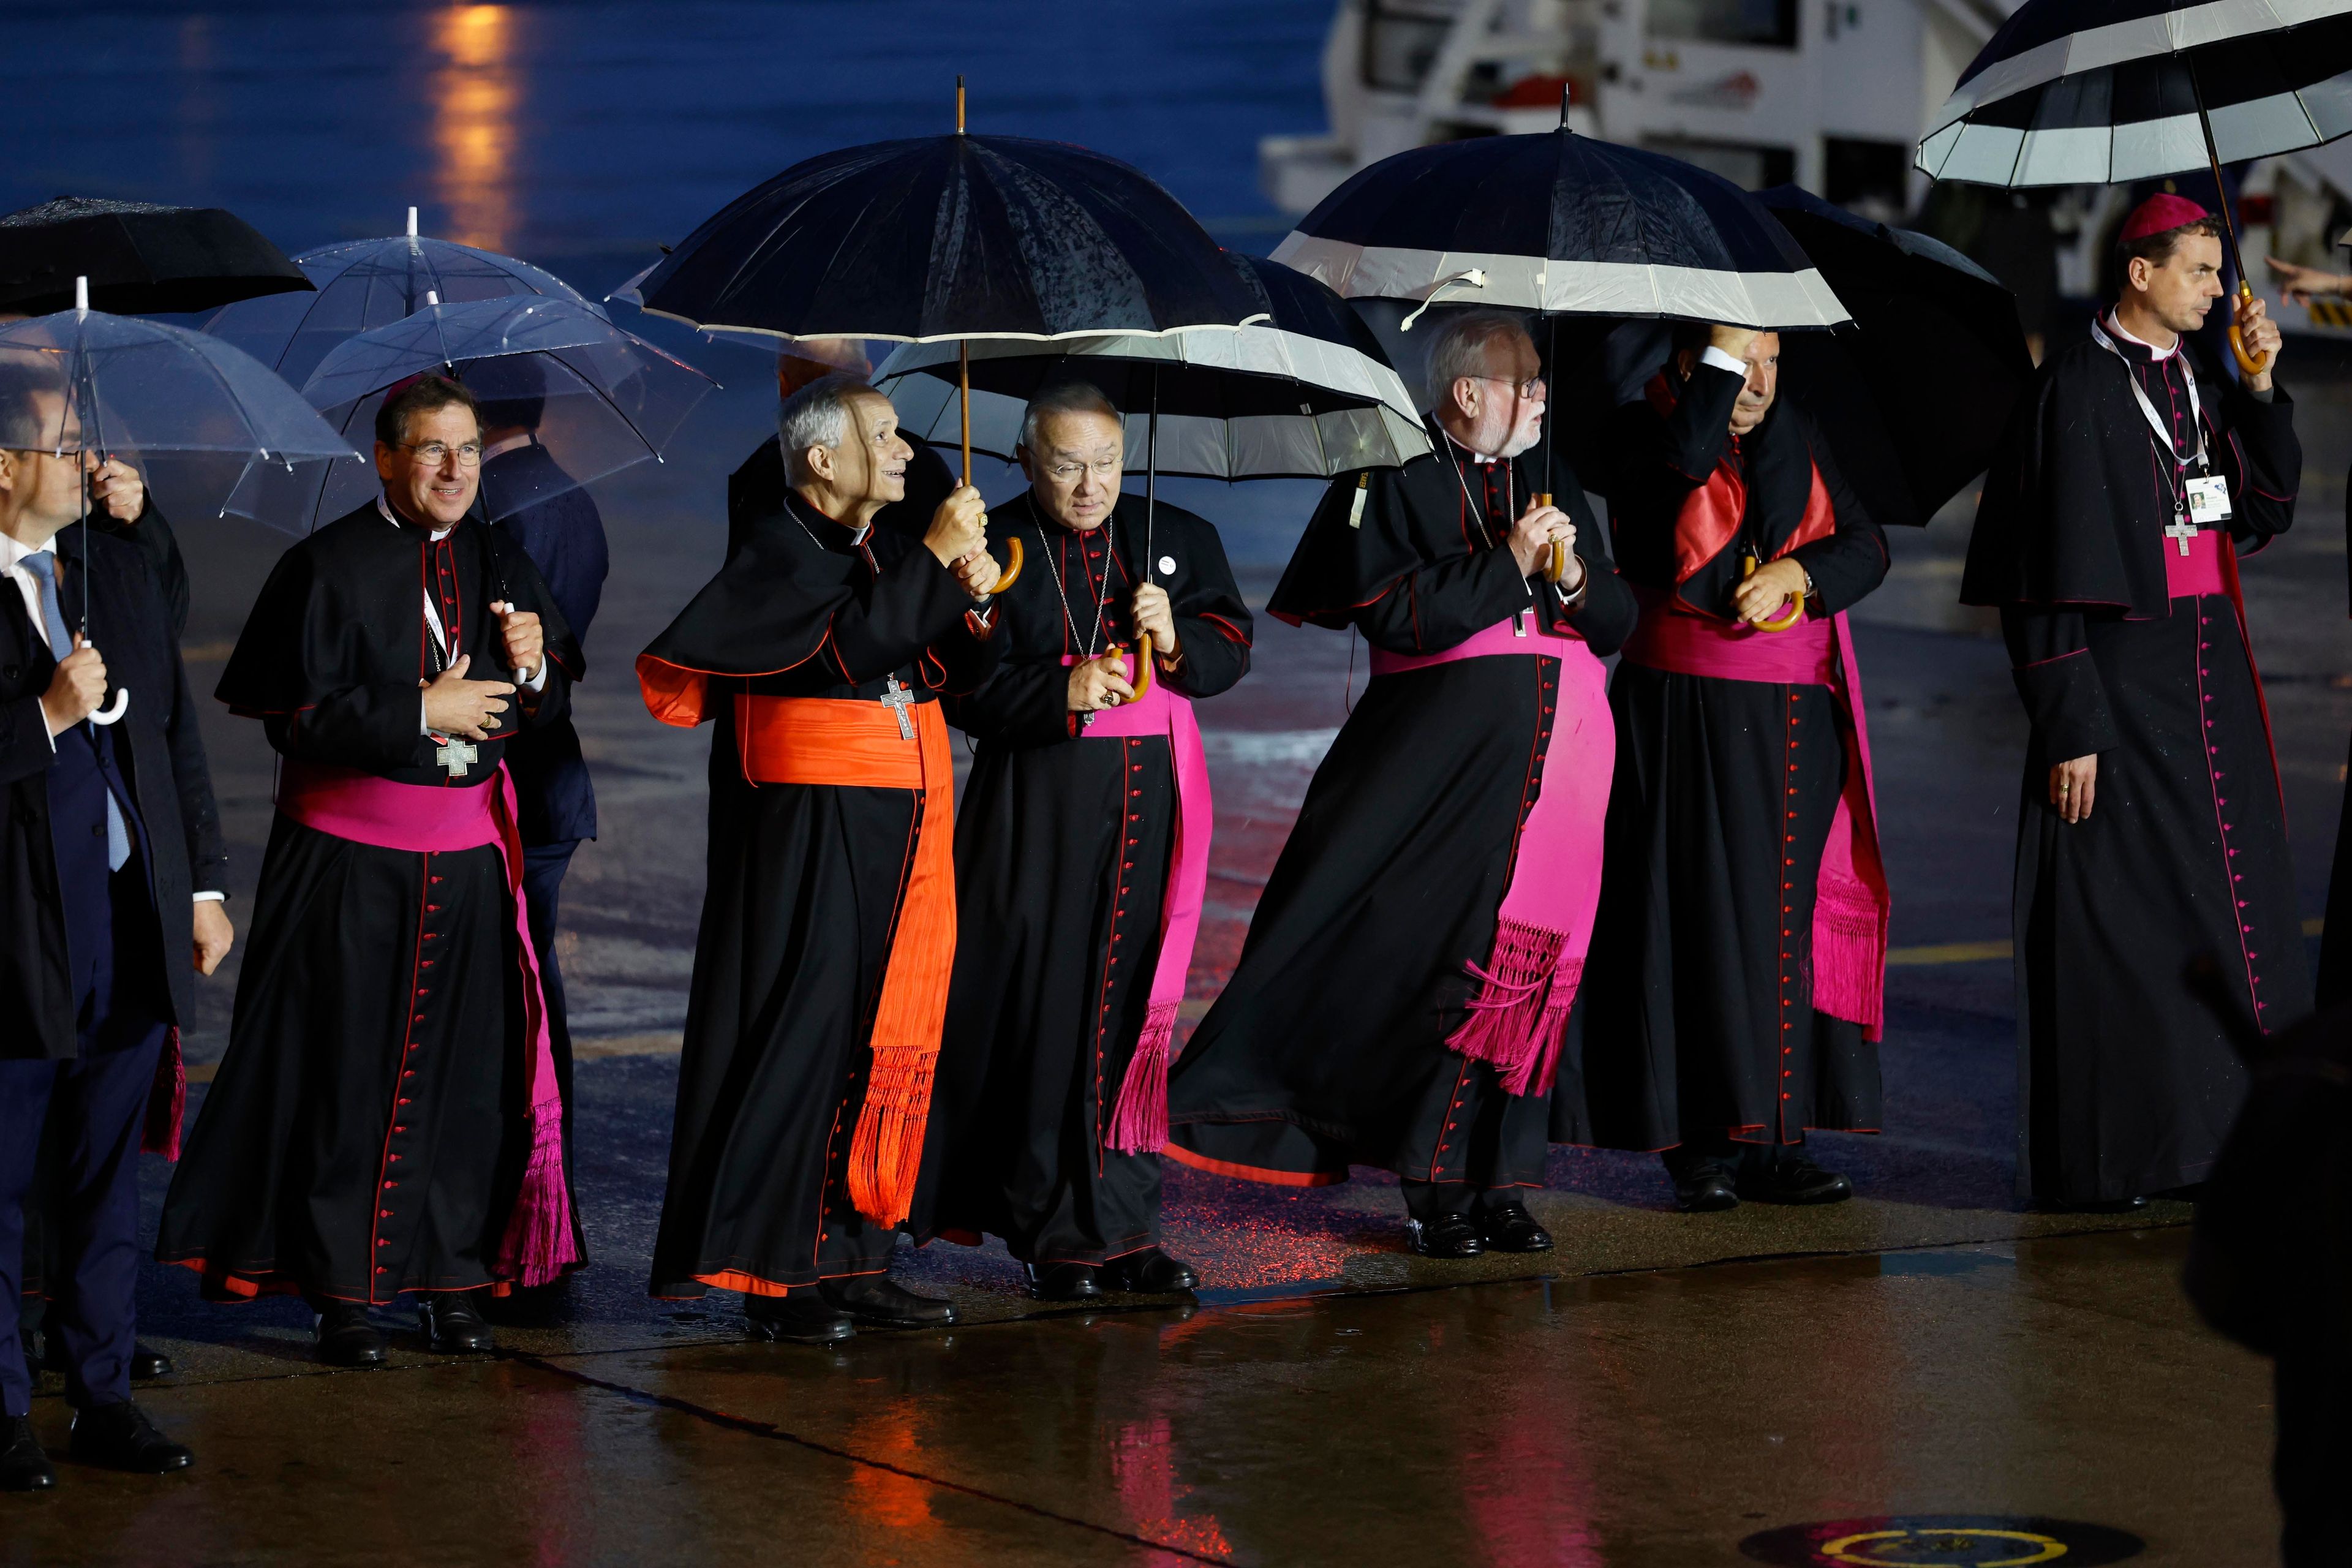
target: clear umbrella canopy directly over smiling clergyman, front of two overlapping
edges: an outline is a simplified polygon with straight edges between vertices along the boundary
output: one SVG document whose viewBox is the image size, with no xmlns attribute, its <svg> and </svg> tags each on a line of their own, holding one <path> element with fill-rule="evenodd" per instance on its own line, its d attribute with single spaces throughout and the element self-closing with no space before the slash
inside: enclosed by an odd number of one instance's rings
<svg viewBox="0 0 2352 1568">
<path fill-rule="evenodd" d="M 581 299 L 520 294 L 426 306 L 346 339 L 310 371 L 303 397 L 346 440 L 365 442 L 383 393 L 421 371 L 454 374 L 480 400 L 485 433 L 529 430 L 553 458 L 555 473 L 534 465 L 534 484 L 520 496 L 499 494 L 485 477 L 482 501 L 494 520 L 647 458 L 661 461 L 715 388 L 710 376 L 614 327 Z M 310 524 L 341 517 L 374 494 L 372 468 L 336 465 L 313 489 L 303 517 Z"/>
</svg>

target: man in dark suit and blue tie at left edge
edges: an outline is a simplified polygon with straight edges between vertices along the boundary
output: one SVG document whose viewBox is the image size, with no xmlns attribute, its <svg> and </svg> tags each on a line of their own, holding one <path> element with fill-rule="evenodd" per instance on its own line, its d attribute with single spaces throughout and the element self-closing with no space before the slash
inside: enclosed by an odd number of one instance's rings
<svg viewBox="0 0 2352 1568">
<path fill-rule="evenodd" d="M 73 1458 L 148 1474 L 193 1460 L 129 1399 L 136 1154 L 193 1006 L 179 954 L 212 973 L 230 943 L 228 851 L 162 592 L 136 548 L 73 527 L 96 468 L 56 456 L 75 440 L 64 388 L 0 364 L 0 1490 L 56 1481 L 16 1338 L 24 1197 L 52 1117 Z M 85 588 L 103 656 L 66 630 Z M 92 722 L 108 689 L 132 693 L 120 724 Z"/>
</svg>

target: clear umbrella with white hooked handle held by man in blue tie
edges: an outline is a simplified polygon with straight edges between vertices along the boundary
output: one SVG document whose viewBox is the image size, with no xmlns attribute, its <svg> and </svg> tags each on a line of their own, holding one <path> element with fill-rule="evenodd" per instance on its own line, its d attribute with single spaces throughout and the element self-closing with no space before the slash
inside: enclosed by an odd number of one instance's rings
<svg viewBox="0 0 2352 1568">
<path fill-rule="evenodd" d="M 87 280 L 78 280 L 78 299 L 89 299 Z M 33 425 L 9 437 L 31 440 L 31 449 L 118 456 L 136 468 L 209 456 L 219 505 L 263 468 L 294 475 L 360 456 L 252 355 L 202 331 L 89 308 L 0 327 L 0 400 L 14 404 L 0 409 L 12 421 Z M 80 630 L 89 637 L 87 569 Z M 101 722 L 120 719 L 127 701 L 118 689 Z"/>
</svg>

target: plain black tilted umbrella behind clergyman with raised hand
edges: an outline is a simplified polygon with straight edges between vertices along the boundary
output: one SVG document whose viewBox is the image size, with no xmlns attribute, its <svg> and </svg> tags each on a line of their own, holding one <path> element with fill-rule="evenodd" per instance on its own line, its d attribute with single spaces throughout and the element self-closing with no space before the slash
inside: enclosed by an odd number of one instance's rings
<svg viewBox="0 0 2352 1568">
<path fill-rule="evenodd" d="M 1828 433 L 1872 517 L 1926 527 L 1992 461 L 2032 383 L 2016 296 L 1950 244 L 1799 186 L 1757 200 L 1853 310 L 1851 329 L 1780 339 L 1783 395 Z"/>
</svg>

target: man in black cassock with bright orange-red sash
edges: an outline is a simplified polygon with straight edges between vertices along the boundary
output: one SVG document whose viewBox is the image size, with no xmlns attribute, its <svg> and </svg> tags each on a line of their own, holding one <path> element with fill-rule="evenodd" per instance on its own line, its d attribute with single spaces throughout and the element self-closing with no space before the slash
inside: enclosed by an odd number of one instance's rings
<svg viewBox="0 0 2352 1568">
<path fill-rule="evenodd" d="M 997 661 L 997 578 L 960 487 L 917 543 L 889 400 L 849 376 L 779 416 L 793 489 L 637 658 L 666 724 L 713 722 L 710 886 L 694 947 L 654 1295 L 741 1291 L 753 1333 L 953 1324 L 887 1276 L 915 1194 L 955 964 L 943 691 Z"/>
</svg>

